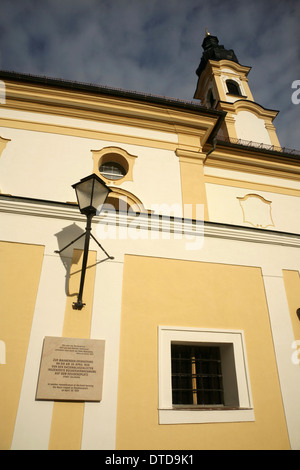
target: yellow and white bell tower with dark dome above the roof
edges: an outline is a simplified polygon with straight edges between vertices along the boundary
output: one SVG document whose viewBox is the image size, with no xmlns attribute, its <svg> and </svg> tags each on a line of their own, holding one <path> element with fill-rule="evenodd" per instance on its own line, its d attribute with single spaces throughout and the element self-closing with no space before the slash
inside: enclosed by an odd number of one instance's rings
<svg viewBox="0 0 300 470">
<path fill-rule="evenodd" d="M 273 120 L 278 111 L 254 101 L 248 85 L 251 67 L 241 65 L 232 49 L 206 31 L 194 94 L 203 106 L 226 111 L 218 136 L 280 147 Z"/>
</svg>

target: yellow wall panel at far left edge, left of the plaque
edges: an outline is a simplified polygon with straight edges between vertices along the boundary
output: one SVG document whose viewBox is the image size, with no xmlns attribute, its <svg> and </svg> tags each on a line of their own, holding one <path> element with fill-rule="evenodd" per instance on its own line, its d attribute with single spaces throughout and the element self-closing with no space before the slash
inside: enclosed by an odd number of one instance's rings
<svg viewBox="0 0 300 470">
<path fill-rule="evenodd" d="M 44 247 L 0 242 L 0 449 L 11 447 Z"/>
</svg>

